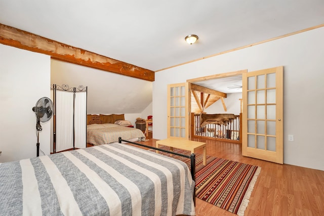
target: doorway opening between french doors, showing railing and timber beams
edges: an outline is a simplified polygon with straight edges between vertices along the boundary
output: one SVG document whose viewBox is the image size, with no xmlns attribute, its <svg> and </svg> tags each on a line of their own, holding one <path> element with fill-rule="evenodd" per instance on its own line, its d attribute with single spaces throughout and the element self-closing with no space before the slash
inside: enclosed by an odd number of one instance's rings
<svg viewBox="0 0 324 216">
<path fill-rule="evenodd" d="M 242 74 L 247 70 L 189 79 L 189 134 L 241 143 Z"/>
</svg>

